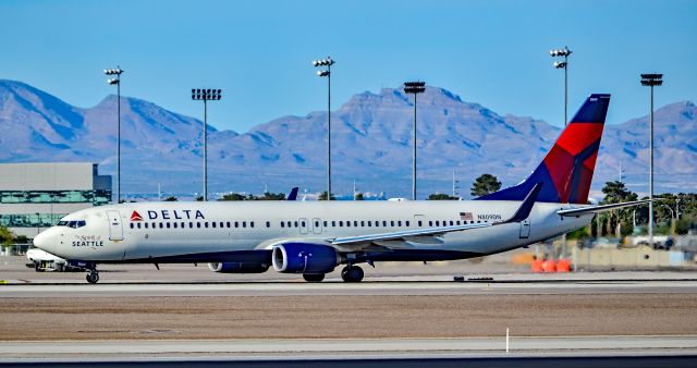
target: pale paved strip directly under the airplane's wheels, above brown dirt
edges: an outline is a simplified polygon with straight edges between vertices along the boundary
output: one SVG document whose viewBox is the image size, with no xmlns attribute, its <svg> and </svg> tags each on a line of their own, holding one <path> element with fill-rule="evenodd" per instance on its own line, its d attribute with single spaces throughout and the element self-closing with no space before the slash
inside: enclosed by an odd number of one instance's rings
<svg viewBox="0 0 697 368">
<path fill-rule="evenodd" d="M 11 284 L 1 297 L 697 294 L 697 280 L 367 281 Z"/>
</svg>

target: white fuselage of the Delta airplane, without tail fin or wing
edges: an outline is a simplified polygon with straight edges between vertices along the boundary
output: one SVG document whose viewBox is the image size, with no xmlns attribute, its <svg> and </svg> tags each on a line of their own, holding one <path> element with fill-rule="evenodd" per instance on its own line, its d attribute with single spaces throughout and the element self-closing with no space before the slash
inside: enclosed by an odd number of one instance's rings
<svg viewBox="0 0 697 368">
<path fill-rule="evenodd" d="M 472 221 L 500 222 L 510 218 L 519 205 L 519 201 L 485 200 L 122 204 L 71 213 L 62 221 L 77 225 L 50 228 L 35 238 L 35 245 L 66 259 L 93 262 L 167 257 L 175 261 L 180 255 L 271 249 L 284 242 L 326 244 L 350 254 L 360 248 L 334 246 L 331 240 Z M 565 218 L 557 214 L 565 208 L 570 206 L 537 203 L 523 222 L 375 245 L 390 249 L 494 254 L 561 235 L 592 219 L 592 214 Z"/>
</svg>

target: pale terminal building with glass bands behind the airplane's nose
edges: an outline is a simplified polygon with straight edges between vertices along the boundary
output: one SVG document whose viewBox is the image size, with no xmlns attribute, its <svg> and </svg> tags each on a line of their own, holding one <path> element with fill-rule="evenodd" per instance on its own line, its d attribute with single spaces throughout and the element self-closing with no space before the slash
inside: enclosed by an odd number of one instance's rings
<svg viewBox="0 0 697 368">
<path fill-rule="evenodd" d="M 97 163 L 0 163 L 0 225 L 33 238 L 65 214 L 111 203 Z"/>
</svg>

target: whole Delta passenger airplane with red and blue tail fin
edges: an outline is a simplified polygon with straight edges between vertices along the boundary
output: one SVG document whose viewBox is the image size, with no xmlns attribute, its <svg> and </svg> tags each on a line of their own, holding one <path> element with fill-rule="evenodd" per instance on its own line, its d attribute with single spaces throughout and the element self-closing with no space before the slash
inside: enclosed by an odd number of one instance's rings
<svg viewBox="0 0 697 368">
<path fill-rule="evenodd" d="M 129 203 L 65 216 L 34 245 L 89 270 L 98 263 L 196 263 L 229 273 L 302 273 L 308 282 L 345 265 L 482 257 L 586 226 L 596 212 L 636 206 L 588 205 L 610 95 L 594 94 L 535 171 L 474 200 Z"/>
</svg>

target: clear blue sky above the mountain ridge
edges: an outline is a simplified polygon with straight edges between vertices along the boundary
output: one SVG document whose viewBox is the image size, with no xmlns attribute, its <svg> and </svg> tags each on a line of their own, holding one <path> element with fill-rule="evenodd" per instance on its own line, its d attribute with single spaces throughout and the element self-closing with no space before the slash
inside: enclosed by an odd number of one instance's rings
<svg viewBox="0 0 697 368">
<path fill-rule="evenodd" d="M 326 108 L 313 59 L 331 56 L 332 106 L 419 78 L 499 113 L 563 124 L 567 45 L 570 115 L 611 93 L 610 123 L 645 115 L 639 73 L 662 72 L 656 103 L 697 101 L 697 1 L 19 1 L 0 2 L 0 78 L 80 107 L 113 87 L 201 116 L 192 87 L 223 89 L 209 123 L 246 132 Z"/>
</svg>

